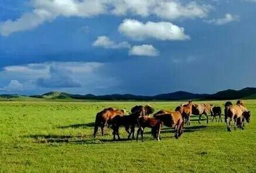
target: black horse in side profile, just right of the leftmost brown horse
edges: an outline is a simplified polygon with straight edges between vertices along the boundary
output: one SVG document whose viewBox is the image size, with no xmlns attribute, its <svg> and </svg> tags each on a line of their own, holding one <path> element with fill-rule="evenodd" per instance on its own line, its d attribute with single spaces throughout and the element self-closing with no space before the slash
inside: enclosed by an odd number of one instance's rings
<svg viewBox="0 0 256 173">
<path fill-rule="evenodd" d="M 137 124 L 138 118 L 142 115 L 143 115 L 143 112 L 136 111 L 125 116 L 120 116 L 120 115 L 115 116 L 112 120 L 113 140 L 116 140 L 115 135 L 117 135 L 118 140 L 120 140 L 120 136 L 119 136 L 120 126 L 125 126 L 125 130 L 128 133 L 128 139 L 131 137 L 131 134 L 133 134 L 132 138 L 135 139 L 134 137 L 135 124 Z M 131 131 L 129 131 L 130 129 Z"/>
</svg>

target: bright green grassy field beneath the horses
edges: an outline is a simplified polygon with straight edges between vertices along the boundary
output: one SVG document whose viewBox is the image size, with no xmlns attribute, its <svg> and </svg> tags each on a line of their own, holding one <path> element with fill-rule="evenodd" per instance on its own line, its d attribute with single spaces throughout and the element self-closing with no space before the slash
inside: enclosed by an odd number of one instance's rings
<svg viewBox="0 0 256 173">
<path fill-rule="evenodd" d="M 156 110 L 180 103 L 150 102 Z M 256 172 L 256 100 L 246 101 L 252 118 L 245 130 L 227 132 L 224 122 L 198 124 L 193 117 L 178 140 L 169 128 L 160 142 L 149 129 L 145 142 L 113 142 L 108 128 L 92 137 L 96 112 L 135 104 L 146 102 L 0 102 L 0 171 Z"/>
</svg>

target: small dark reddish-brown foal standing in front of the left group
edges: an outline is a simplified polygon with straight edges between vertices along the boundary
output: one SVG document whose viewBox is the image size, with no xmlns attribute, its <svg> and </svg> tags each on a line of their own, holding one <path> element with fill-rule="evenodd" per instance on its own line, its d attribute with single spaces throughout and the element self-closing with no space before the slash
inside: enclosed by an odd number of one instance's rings
<svg viewBox="0 0 256 173">
<path fill-rule="evenodd" d="M 144 141 L 143 138 L 143 132 L 145 127 L 151 128 L 151 133 L 153 136 L 160 141 L 160 132 L 161 132 L 161 126 L 163 125 L 163 122 L 157 118 L 151 118 L 148 116 L 141 116 L 138 119 L 139 128 L 137 130 L 137 137 L 136 140 L 138 141 L 139 133 L 141 133 L 141 140 Z"/>
</svg>

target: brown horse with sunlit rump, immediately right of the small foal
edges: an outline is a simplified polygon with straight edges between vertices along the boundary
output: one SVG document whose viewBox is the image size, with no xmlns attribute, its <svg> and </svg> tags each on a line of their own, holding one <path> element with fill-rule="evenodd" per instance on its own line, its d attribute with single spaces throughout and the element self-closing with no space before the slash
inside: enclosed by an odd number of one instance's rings
<svg viewBox="0 0 256 173">
<path fill-rule="evenodd" d="M 181 113 L 178 111 L 168 112 L 163 114 L 163 112 L 157 112 L 154 114 L 154 117 L 161 120 L 165 126 L 174 128 L 175 138 L 179 138 L 183 133 L 184 121 L 181 116 Z"/>
</svg>

